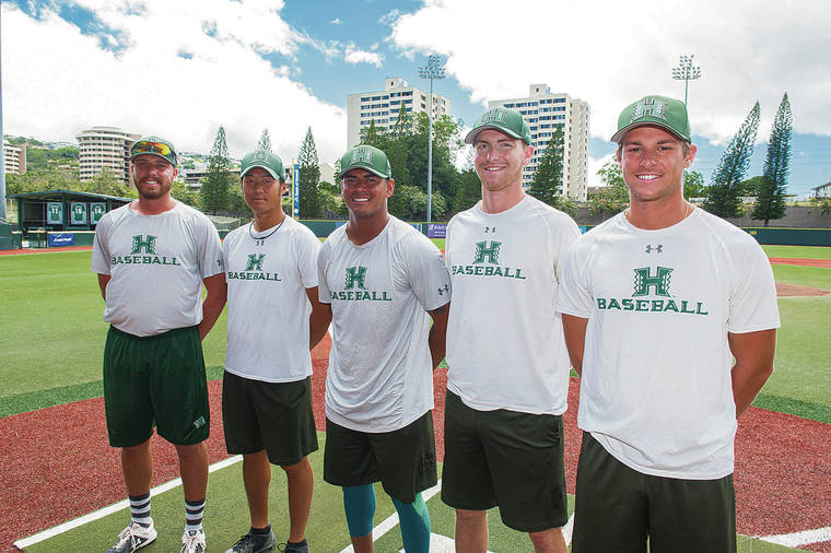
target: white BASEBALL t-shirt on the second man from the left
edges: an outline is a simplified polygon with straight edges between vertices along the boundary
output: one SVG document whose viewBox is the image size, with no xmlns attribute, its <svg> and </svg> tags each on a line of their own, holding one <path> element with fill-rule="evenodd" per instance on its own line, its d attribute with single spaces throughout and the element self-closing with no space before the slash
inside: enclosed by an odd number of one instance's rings
<svg viewBox="0 0 831 553">
<path fill-rule="evenodd" d="M 261 233 L 244 225 L 223 243 L 225 369 L 267 383 L 302 380 L 312 374 L 306 289 L 317 286 L 320 240 L 289 216 L 281 225 Z"/>
</svg>

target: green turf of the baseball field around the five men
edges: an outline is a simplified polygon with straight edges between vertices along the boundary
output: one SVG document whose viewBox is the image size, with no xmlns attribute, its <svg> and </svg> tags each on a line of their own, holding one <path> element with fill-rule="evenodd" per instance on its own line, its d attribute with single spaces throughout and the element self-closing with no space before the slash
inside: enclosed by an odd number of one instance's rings
<svg viewBox="0 0 831 553">
<path fill-rule="evenodd" d="M 831 248 L 777 246 L 769 250 L 769 255 L 829 259 Z M 101 318 L 104 302 L 96 278 L 90 272 L 90 251 L 0 258 L 0 290 L 4 292 L 0 303 L 0 328 L 3 329 L 0 334 L 0 379 L 3 381 L 0 416 L 101 396 L 101 358 L 107 326 Z M 783 282 L 831 290 L 831 269 L 776 266 L 774 273 Z M 831 423 L 831 341 L 827 339 L 831 296 L 780 298 L 779 304 L 783 329 L 776 370 L 754 404 Z M 225 338 L 223 314 L 204 342 L 210 378 L 221 376 Z M 349 543 L 340 491 L 323 483 L 321 452 L 313 455 L 312 460 L 318 485 L 308 536 L 314 537 L 317 551 L 340 551 Z M 230 546 L 246 530 L 247 507 L 241 470 L 241 463 L 236 463 L 210 478 L 209 497 L 216 498 L 209 503 L 206 514 L 211 549 Z M 394 513 L 386 495 L 377 495 L 376 523 Z M 284 478 L 277 469 L 271 491 L 272 520 L 282 539 L 288 533 L 285 496 Z M 160 539 L 147 551 L 178 548 L 182 502 L 180 487 L 154 497 Z M 452 536 L 453 510 L 437 496 L 430 499 L 429 506 L 434 533 Z M 125 509 L 26 551 L 83 551 L 93 543 L 95 549 L 106 548 L 126 518 Z M 527 538 L 502 526 L 495 511 L 490 515 L 490 527 L 492 551 L 530 551 Z M 376 550 L 397 551 L 400 545 L 396 527 L 376 543 Z M 739 551 L 791 550 L 741 537 Z"/>
</svg>

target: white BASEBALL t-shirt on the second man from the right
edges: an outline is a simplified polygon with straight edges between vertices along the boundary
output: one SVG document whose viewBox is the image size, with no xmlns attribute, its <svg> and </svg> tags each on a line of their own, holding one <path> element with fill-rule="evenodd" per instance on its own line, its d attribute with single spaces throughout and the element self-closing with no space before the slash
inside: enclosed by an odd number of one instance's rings
<svg viewBox="0 0 831 553">
<path fill-rule="evenodd" d="M 554 297 L 577 236 L 569 215 L 531 196 L 501 213 L 477 203 L 450 220 L 447 388 L 471 409 L 565 412 L 570 365 Z"/>
</svg>

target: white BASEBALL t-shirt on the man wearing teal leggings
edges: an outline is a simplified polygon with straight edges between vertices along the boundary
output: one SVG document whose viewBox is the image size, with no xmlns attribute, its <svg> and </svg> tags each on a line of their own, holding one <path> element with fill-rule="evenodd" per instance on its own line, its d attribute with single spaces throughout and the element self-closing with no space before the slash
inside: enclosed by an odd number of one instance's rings
<svg viewBox="0 0 831 553">
<path fill-rule="evenodd" d="M 355 246 L 346 225 L 324 243 L 318 293 L 331 304 L 326 416 L 360 432 L 402 428 L 433 408 L 430 316 L 450 301 L 438 249 L 390 216 Z"/>
</svg>

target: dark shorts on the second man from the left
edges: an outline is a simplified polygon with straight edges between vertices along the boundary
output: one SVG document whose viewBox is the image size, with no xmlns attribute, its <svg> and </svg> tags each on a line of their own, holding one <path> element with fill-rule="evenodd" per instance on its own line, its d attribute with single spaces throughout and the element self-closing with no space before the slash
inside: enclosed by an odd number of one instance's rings
<svg viewBox="0 0 831 553">
<path fill-rule="evenodd" d="M 272 464 L 295 464 L 317 450 L 312 378 L 264 383 L 225 370 L 222 422 L 229 454 L 265 449 Z"/>
</svg>

